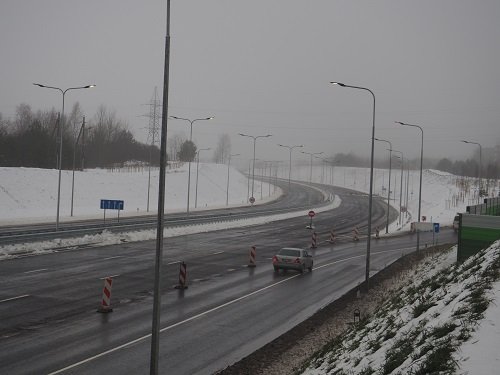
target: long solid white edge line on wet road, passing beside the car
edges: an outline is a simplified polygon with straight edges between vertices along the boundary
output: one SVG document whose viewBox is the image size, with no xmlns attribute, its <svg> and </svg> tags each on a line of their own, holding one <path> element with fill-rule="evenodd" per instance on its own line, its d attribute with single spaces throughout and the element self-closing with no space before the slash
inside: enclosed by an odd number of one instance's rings
<svg viewBox="0 0 500 375">
<path fill-rule="evenodd" d="M 393 251 L 401 251 L 401 250 L 402 250 L 402 249 L 384 250 L 384 251 L 377 251 L 377 252 L 374 252 L 373 254 L 382 254 L 382 253 L 393 252 Z M 330 263 L 327 263 L 327 264 L 322 264 L 321 266 L 315 267 L 315 268 L 313 268 L 313 270 L 321 269 L 321 268 L 324 268 L 324 267 L 327 267 L 327 266 L 331 266 L 331 265 L 333 265 L 333 264 L 337 264 L 337 263 L 343 263 L 343 262 L 346 262 L 346 261 L 348 261 L 348 260 L 352 260 L 352 259 L 363 258 L 363 257 L 365 257 L 365 256 L 366 256 L 365 254 L 362 254 L 362 255 L 356 255 L 356 256 L 349 257 L 349 258 L 345 258 L 345 259 L 336 260 L 336 261 L 334 261 L 334 262 L 330 262 Z M 176 263 L 177 263 L 177 262 L 176 262 Z M 246 267 L 246 266 L 245 266 L 245 267 Z M 265 286 L 265 287 L 263 287 L 263 288 L 257 289 L 257 290 L 255 290 L 255 291 L 253 291 L 253 292 L 251 292 L 251 293 L 245 294 L 245 295 L 243 295 L 243 296 L 241 296 L 241 297 L 238 297 L 238 298 L 235 298 L 235 299 L 233 299 L 233 300 L 231 300 L 231 301 L 228 301 L 228 302 L 226 302 L 226 303 L 223 303 L 222 305 L 219 305 L 219 306 L 213 307 L 213 308 L 211 308 L 211 309 L 209 309 L 209 310 L 207 310 L 207 311 L 204 311 L 204 312 L 201 312 L 201 313 L 199 313 L 199 314 L 193 315 L 193 316 L 192 316 L 192 317 L 190 317 L 190 318 L 187 318 L 187 319 L 184 319 L 184 320 L 182 320 L 182 321 L 180 321 L 180 322 L 177 322 L 177 323 L 171 324 L 171 325 L 169 325 L 169 326 L 167 326 L 167 327 L 164 327 L 164 328 L 160 329 L 160 333 L 165 332 L 165 331 L 168 331 L 168 330 L 170 330 L 170 329 L 172 329 L 172 328 L 178 327 L 178 326 L 183 325 L 183 324 L 185 324 L 185 323 L 189 323 L 189 322 L 191 322 L 191 321 L 193 321 L 193 320 L 196 320 L 196 319 L 201 318 L 201 317 L 203 317 L 203 316 L 205 316 L 205 315 L 208 315 L 208 314 L 210 314 L 210 313 L 212 313 L 212 312 L 214 312 L 214 311 L 217 311 L 217 310 L 220 310 L 220 309 L 222 309 L 222 308 L 224 308 L 224 307 L 230 306 L 230 305 L 232 305 L 232 304 L 234 304 L 234 303 L 236 303 L 236 302 L 242 301 L 242 300 L 244 300 L 244 299 L 246 299 L 246 298 L 249 298 L 249 297 L 251 297 L 251 296 L 254 296 L 254 295 L 256 295 L 256 294 L 258 294 L 258 293 L 261 293 L 261 292 L 263 292 L 263 291 L 265 291 L 265 290 L 268 290 L 268 289 L 274 288 L 274 287 L 275 287 L 275 286 L 277 286 L 277 285 L 280 285 L 280 284 L 285 283 L 285 282 L 287 282 L 287 281 L 289 281 L 289 280 L 295 279 L 296 277 L 299 277 L 299 276 L 302 276 L 302 274 L 298 273 L 298 274 L 296 274 L 296 275 L 289 276 L 289 277 L 287 277 L 287 278 L 285 278 L 285 279 L 283 279 L 283 280 L 280 280 L 280 281 L 278 281 L 278 282 L 276 282 L 276 283 L 270 284 L 270 285 Z M 74 364 L 69 365 L 69 366 L 67 366 L 67 367 L 65 367 L 65 368 L 62 368 L 62 369 L 60 369 L 60 370 L 57 370 L 57 371 L 51 372 L 51 373 L 50 373 L 50 374 L 48 374 L 48 375 L 57 375 L 57 374 L 61 374 L 61 373 L 65 372 L 65 371 L 68 371 L 68 370 L 70 370 L 70 369 L 73 369 L 73 368 L 75 368 L 75 367 L 78 367 L 78 366 L 80 366 L 80 365 L 83 365 L 83 364 L 85 364 L 85 363 L 92 362 L 93 360 L 96 360 L 96 359 L 101 358 L 101 357 L 104 357 L 104 356 L 106 356 L 106 355 L 108 355 L 108 354 L 114 353 L 114 352 L 116 352 L 116 351 L 118 351 L 118 350 L 121 350 L 121 349 L 124 349 L 124 348 L 126 348 L 126 347 L 129 347 L 129 346 L 131 346 L 131 345 L 133 345 L 133 344 L 135 344 L 135 343 L 138 343 L 138 342 L 140 342 L 140 341 L 144 341 L 144 340 L 146 340 L 146 339 L 148 339 L 148 338 L 150 338 L 150 337 L 151 337 L 151 333 L 149 333 L 149 334 L 147 334 L 147 335 L 144 335 L 144 336 L 142 336 L 142 337 L 139 337 L 139 338 L 137 338 L 137 339 L 135 339 L 135 340 L 132 340 L 132 341 L 126 342 L 125 344 L 122 344 L 122 345 L 116 346 L 116 347 L 114 347 L 114 348 L 111 348 L 111 349 L 109 349 L 109 350 L 106 350 L 106 351 L 104 351 L 104 352 L 101 352 L 101 353 L 99 353 L 99 354 L 96 354 L 95 356 L 92 356 L 92 357 L 86 358 L 86 359 L 84 359 L 84 360 L 82 360 L 82 361 L 80 361 L 80 362 L 74 363 Z"/>
</svg>

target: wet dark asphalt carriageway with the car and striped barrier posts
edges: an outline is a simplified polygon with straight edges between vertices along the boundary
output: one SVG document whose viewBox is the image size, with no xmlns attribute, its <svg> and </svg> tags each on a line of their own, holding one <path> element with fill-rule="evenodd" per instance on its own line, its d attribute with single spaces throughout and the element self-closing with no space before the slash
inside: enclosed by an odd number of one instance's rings
<svg viewBox="0 0 500 375">
<path fill-rule="evenodd" d="M 273 340 L 364 280 L 366 242 L 347 234 L 366 221 L 367 197 L 341 188 L 335 210 L 315 218 L 312 273 L 276 274 L 282 246 L 310 245 L 309 218 L 169 238 L 162 280 L 161 373 L 211 374 Z M 374 225 L 385 223 L 374 202 Z M 306 213 L 307 211 L 305 211 Z M 394 213 L 392 213 L 393 215 Z M 338 242 L 325 242 L 335 226 Z M 343 229 L 342 229 L 343 228 Z M 421 245 L 432 241 L 421 235 Z M 453 232 L 440 242 L 454 242 Z M 371 272 L 415 250 L 415 236 L 374 240 Z M 248 251 L 257 248 L 257 267 Z M 125 243 L 0 262 L 0 370 L 6 374 L 147 374 L 155 243 Z M 188 289 L 174 289 L 179 261 Z M 113 312 L 96 312 L 113 276 Z"/>
</svg>

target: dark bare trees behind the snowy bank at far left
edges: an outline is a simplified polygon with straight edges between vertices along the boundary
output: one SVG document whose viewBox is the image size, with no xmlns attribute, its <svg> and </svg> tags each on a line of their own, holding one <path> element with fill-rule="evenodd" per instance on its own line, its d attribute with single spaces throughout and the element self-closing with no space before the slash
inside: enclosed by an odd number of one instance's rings
<svg viewBox="0 0 500 375">
<path fill-rule="evenodd" d="M 0 166 L 57 168 L 60 133 L 59 114 L 32 111 L 27 104 L 16 109 L 14 120 L 0 113 Z M 62 133 L 62 168 L 96 168 L 140 161 L 159 164 L 156 146 L 137 142 L 124 122 L 114 112 L 101 106 L 92 118 L 85 118 L 76 103 L 65 114 Z"/>
</svg>

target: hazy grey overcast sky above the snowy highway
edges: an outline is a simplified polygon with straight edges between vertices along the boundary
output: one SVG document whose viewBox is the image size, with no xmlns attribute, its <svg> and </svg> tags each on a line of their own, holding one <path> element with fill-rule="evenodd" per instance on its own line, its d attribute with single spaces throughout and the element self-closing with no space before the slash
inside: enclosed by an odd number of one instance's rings
<svg viewBox="0 0 500 375">
<path fill-rule="evenodd" d="M 369 155 L 376 137 L 405 157 L 467 158 L 500 144 L 500 1 L 172 0 L 169 115 L 195 123 L 199 148 L 227 133 L 232 152 L 288 160 L 277 146 Z M 91 118 L 103 104 L 148 135 L 146 106 L 163 86 L 166 0 L 2 0 L 0 112 L 60 110 L 61 88 Z M 169 120 L 169 135 L 186 122 Z M 376 157 L 386 155 L 376 144 Z M 308 158 L 296 153 L 295 158 Z"/>
</svg>

